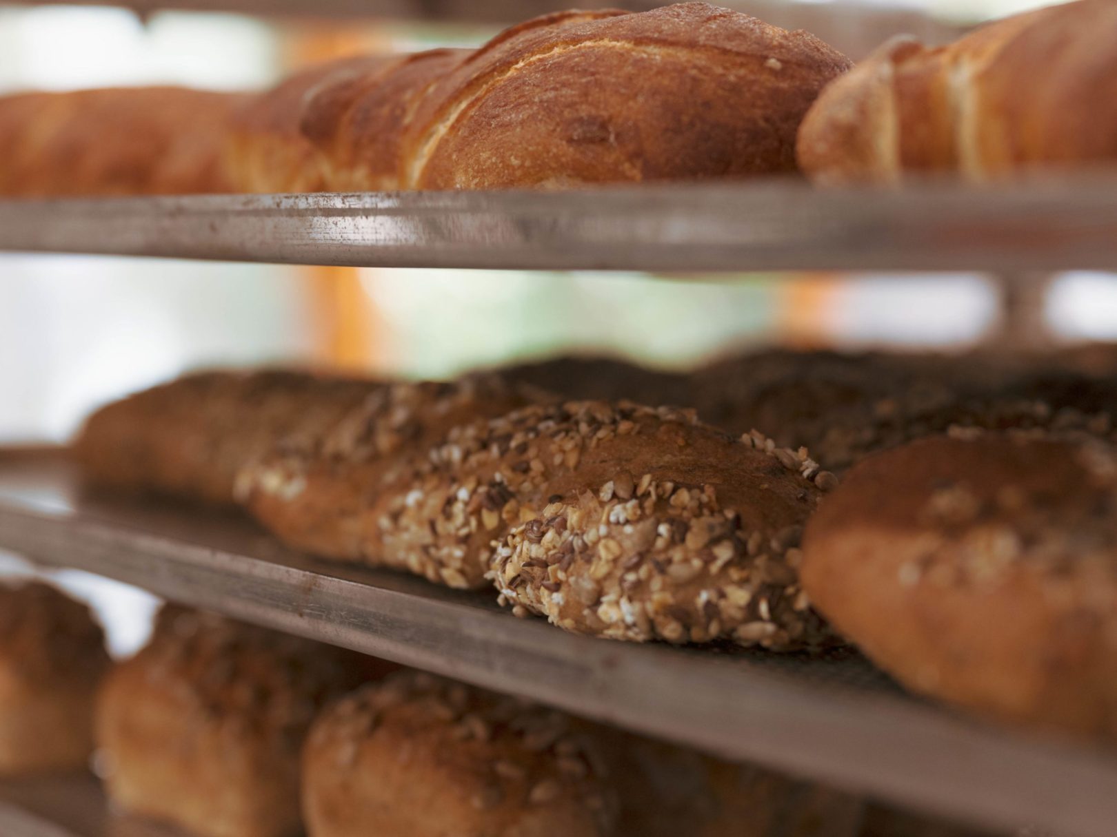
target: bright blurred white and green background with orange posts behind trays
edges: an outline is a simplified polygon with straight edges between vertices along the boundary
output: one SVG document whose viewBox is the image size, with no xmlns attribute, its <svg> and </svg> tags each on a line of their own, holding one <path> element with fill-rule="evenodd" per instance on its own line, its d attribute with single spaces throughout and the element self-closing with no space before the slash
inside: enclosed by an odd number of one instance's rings
<svg viewBox="0 0 1117 837">
<path fill-rule="evenodd" d="M 175 3 L 198 11 L 161 11 L 146 2 L 0 4 L 0 93 L 155 83 L 258 88 L 294 67 L 341 55 L 476 45 L 502 23 L 544 10 L 532 4 L 525 11 L 512 0 L 456 1 Z M 981 19 L 1040 3 L 733 4 L 781 26 L 811 29 L 856 58 L 897 32 L 945 40 Z M 321 17 L 293 15 L 312 8 Z M 383 19 L 374 19 L 381 11 Z M 464 22 L 408 21 L 411 11 Z M 1040 296 L 1043 324 L 1056 339 L 1117 339 L 1113 277 L 1056 277 Z M 686 368 L 761 343 L 951 350 L 994 333 L 1000 310 L 995 282 L 982 276 L 649 281 L 617 273 L 0 254 L 0 442 L 65 440 L 95 405 L 206 365 L 294 362 L 441 377 L 569 352 Z M 0 561 L 0 571 L 19 567 L 15 559 Z M 150 610 L 150 597 L 80 574 L 65 576 L 108 605 L 102 613 L 117 651 L 141 641 L 146 622 L 137 616 Z"/>
</svg>

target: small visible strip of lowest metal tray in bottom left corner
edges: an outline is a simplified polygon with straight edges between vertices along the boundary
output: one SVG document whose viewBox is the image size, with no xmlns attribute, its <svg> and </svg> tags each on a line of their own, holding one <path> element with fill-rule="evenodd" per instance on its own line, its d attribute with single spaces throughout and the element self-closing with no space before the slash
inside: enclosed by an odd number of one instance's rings
<svg viewBox="0 0 1117 837">
<path fill-rule="evenodd" d="M 88 773 L 0 779 L 3 837 L 182 837 L 180 831 L 111 810 Z"/>
</svg>

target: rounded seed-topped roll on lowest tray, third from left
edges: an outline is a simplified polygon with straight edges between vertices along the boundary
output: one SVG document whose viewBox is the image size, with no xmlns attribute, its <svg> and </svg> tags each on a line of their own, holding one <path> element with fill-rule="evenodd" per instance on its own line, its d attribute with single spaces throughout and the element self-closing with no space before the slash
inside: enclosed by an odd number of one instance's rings
<svg viewBox="0 0 1117 837">
<path fill-rule="evenodd" d="M 347 695 L 303 758 L 309 837 L 607 837 L 594 742 L 558 712 L 418 672 Z"/>
</svg>

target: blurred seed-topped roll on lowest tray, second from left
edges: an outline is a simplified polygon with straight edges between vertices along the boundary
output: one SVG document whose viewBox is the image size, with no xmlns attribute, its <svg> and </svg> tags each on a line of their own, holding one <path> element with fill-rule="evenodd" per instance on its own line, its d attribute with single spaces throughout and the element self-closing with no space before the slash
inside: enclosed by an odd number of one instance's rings
<svg viewBox="0 0 1117 837">
<path fill-rule="evenodd" d="M 294 837 L 299 752 L 315 713 L 392 667 L 172 608 L 102 689 L 107 792 L 199 837 Z"/>
</svg>

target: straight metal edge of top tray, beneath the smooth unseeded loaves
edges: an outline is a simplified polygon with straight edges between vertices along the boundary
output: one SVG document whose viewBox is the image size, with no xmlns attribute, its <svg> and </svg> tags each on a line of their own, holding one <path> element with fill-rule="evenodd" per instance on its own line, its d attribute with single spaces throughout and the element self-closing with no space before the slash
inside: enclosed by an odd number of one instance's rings
<svg viewBox="0 0 1117 837">
<path fill-rule="evenodd" d="M 1117 179 L 0 201 L 0 250 L 690 273 L 1117 269 Z"/>
</svg>

